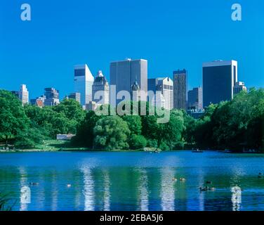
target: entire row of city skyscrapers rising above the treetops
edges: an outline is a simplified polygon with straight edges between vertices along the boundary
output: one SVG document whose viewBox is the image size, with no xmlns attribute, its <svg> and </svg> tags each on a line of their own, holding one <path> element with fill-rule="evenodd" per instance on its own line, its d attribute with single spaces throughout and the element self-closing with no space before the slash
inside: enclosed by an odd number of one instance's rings
<svg viewBox="0 0 264 225">
<path fill-rule="evenodd" d="M 206 108 L 211 103 L 230 101 L 240 91 L 247 91 L 245 83 L 238 81 L 239 67 L 237 65 L 236 60 L 214 60 L 203 63 L 203 86 L 195 87 L 192 90 L 187 88 L 188 72 L 185 69 L 173 71 L 173 79 L 170 77 L 148 78 L 147 60 L 145 59 L 126 58 L 111 62 L 110 86 L 101 70 L 97 72 L 94 79 L 87 64 L 75 65 L 74 87 L 76 92 L 66 95 L 64 98 L 73 98 L 79 101 L 86 110 L 95 110 L 98 105 L 102 104 L 116 106 L 121 101 L 127 100 L 127 94 L 132 101 L 150 101 L 152 105 L 167 110 L 173 108 L 202 110 L 203 106 Z M 25 90 L 24 94 L 22 94 L 22 89 Z M 20 98 L 23 105 L 29 103 L 29 91 L 25 84 L 21 84 L 20 91 L 11 92 Z M 45 88 L 44 96 L 33 98 L 30 103 L 39 105 L 39 101 L 42 101 L 44 105 L 58 105 L 60 103 L 59 92 L 55 88 Z M 81 93 L 83 94 L 81 95 Z M 120 94 L 123 96 L 123 100 L 120 100 Z M 81 96 L 83 97 L 81 98 Z M 110 101 L 110 96 L 113 98 L 112 101 Z M 98 102 L 99 99 L 100 102 Z M 42 105 L 40 106 L 42 107 Z"/>
</svg>

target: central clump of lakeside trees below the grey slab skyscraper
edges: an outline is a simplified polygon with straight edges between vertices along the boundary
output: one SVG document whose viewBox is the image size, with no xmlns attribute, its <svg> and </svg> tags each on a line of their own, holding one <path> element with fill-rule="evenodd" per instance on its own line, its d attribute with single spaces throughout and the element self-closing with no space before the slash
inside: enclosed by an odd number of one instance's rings
<svg viewBox="0 0 264 225">
<path fill-rule="evenodd" d="M 139 103 L 140 105 L 140 103 Z M 108 106 L 110 108 L 110 106 Z M 131 103 L 133 108 L 133 103 Z M 87 148 L 116 150 L 160 148 L 172 150 L 183 147 L 184 118 L 180 110 L 169 112 L 168 123 L 158 123 L 157 113 L 150 115 L 96 115 L 90 111 L 81 123 L 73 143 Z M 109 110 L 110 111 L 110 110 Z M 139 110 L 140 111 L 140 110 Z"/>
</svg>

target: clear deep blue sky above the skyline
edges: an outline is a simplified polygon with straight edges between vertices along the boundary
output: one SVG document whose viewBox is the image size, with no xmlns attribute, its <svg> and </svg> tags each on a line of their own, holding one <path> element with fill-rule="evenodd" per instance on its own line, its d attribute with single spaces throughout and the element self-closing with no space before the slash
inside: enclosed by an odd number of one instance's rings
<svg viewBox="0 0 264 225">
<path fill-rule="evenodd" d="M 27 84 L 29 97 L 54 86 L 73 91 L 73 67 L 87 63 L 109 77 L 110 62 L 148 60 L 148 76 L 189 71 L 189 87 L 202 84 L 202 63 L 238 60 L 239 80 L 264 87 L 263 0 L 2 0 L 0 89 Z M 32 21 L 20 20 L 20 6 Z M 242 21 L 231 6 L 242 5 Z"/>
</svg>

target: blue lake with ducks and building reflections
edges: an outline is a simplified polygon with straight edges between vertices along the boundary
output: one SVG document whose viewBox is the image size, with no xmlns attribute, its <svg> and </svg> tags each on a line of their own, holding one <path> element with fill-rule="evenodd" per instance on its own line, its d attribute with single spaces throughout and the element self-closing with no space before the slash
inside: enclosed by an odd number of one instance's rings
<svg viewBox="0 0 264 225">
<path fill-rule="evenodd" d="M 13 210 L 264 210 L 260 172 L 254 154 L 1 153 L 0 191 Z"/>
</svg>

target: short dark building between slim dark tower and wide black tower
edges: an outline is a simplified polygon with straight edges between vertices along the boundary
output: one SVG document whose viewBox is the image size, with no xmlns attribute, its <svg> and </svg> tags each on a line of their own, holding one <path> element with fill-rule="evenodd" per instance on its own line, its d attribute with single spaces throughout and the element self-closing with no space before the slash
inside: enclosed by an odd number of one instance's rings
<svg viewBox="0 0 264 225">
<path fill-rule="evenodd" d="M 188 105 L 189 110 L 202 110 L 203 109 L 203 91 L 202 87 L 195 87 L 188 91 Z"/>
</svg>

